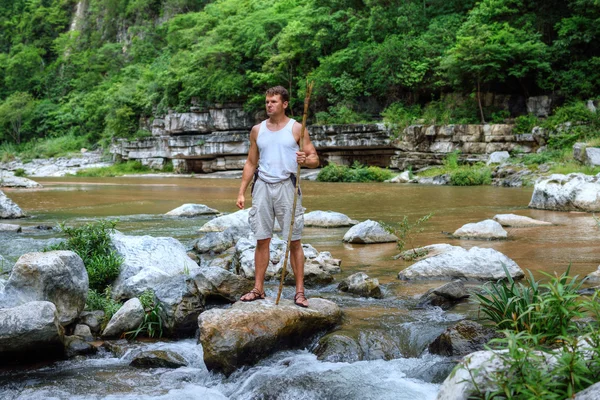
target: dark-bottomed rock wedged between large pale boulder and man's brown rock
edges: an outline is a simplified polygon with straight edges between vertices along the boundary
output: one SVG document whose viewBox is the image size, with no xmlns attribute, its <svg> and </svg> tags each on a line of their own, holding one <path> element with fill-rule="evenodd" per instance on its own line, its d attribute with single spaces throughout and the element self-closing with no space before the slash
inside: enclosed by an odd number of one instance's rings
<svg viewBox="0 0 600 400">
<path fill-rule="evenodd" d="M 172 337 L 194 336 L 198 315 L 204 311 L 204 296 L 194 278 L 189 275 L 168 277 L 156 286 L 154 296 L 160 302 L 165 334 Z"/>
</svg>

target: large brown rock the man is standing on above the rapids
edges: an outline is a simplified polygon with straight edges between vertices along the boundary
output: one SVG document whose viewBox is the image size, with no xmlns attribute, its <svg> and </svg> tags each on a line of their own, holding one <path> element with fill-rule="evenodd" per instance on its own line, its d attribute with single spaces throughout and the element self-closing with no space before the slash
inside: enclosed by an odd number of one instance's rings
<svg viewBox="0 0 600 400">
<path fill-rule="evenodd" d="M 315 298 L 309 304 L 301 308 L 281 300 L 275 306 L 273 299 L 265 299 L 203 312 L 198 318 L 198 341 L 206 366 L 230 374 L 276 350 L 301 346 L 313 334 L 340 322 L 342 312 L 331 301 Z"/>
</svg>

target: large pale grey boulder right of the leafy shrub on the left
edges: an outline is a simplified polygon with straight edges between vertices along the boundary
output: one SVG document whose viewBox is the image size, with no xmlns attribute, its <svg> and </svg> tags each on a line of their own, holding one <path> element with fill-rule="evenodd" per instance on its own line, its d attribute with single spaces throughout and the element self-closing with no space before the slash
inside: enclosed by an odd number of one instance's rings
<svg viewBox="0 0 600 400">
<path fill-rule="evenodd" d="M 129 299 L 176 275 L 193 275 L 196 264 L 185 247 L 170 237 L 111 235 L 112 245 L 123 257 L 121 272 L 113 285 L 115 299 Z"/>
</svg>

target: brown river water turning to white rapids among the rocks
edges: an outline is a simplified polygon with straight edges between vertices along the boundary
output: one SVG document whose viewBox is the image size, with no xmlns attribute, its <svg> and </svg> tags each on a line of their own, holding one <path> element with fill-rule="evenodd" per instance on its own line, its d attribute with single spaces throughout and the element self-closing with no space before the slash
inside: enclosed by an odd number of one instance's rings
<svg viewBox="0 0 600 400">
<path fill-rule="evenodd" d="M 171 236 L 189 243 L 207 218 L 173 218 L 163 214 L 184 203 L 201 203 L 234 212 L 239 180 L 207 178 L 45 178 L 38 190 L 6 190 L 32 215 L 19 221 L 27 229 L 0 237 L 5 270 L 22 254 L 41 250 L 58 237 L 55 231 L 33 229 L 60 222 L 80 224 L 97 218 L 118 219 L 117 229 L 132 235 Z M 412 245 L 450 243 L 465 248 L 491 247 L 512 258 L 536 279 L 561 273 L 585 275 L 600 264 L 600 229 L 590 214 L 530 210 L 531 188 L 450 187 L 399 184 L 302 182 L 307 211 L 332 210 L 357 220 L 395 223 L 433 212 L 415 234 Z M 248 204 L 250 200 L 248 199 Z M 506 241 L 450 239 L 446 232 L 460 226 L 515 213 L 552 222 L 550 227 L 508 229 Z M 306 228 L 304 241 L 342 260 L 336 282 L 363 271 L 379 279 L 384 299 L 360 299 L 336 290 L 337 283 L 307 290 L 338 303 L 344 311 L 341 333 L 371 343 L 366 361 L 319 361 L 308 349 L 280 351 L 257 366 L 230 377 L 206 371 L 201 347 L 194 340 L 144 343 L 172 347 L 188 358 L 189 367 L 136 370 L 128 367 L 134 349 L 120 358 L 101 352 L 19 371 L 0 371 L 0 397 L 46 398 L 169 398 L 169 399 L 433 399 L 452 364 L 427 354 L 427 345 L 447 326 L 476 318 L 476 306 L 463 303 L 449 312 L 416 307 L 418 298 L 441 282 L 403 282 L 397 274 L 409 264 L 394 260 L 396 245 L 349 245 L 341 239 L 347 228 Z M 267 294 L 276 293 L 276 284 Z M 293 289 L 284 296 L 291 298 Z M 382 340 L 381 337 L 386 339 Z M 387 352 L 377 346 L 382 343 Z M 316 343 L 315 343 L 316 344 Z M 314 347 L 314 346 L 313 346 Z M 385 353 L 385 354 L 384 354 Z M 382 355 L 384 354 L 384 355 Z M 392 355 L 390 355 L 392 354 Z M 383 357 L 383 359 L 381 359 Z"/>
</svg>

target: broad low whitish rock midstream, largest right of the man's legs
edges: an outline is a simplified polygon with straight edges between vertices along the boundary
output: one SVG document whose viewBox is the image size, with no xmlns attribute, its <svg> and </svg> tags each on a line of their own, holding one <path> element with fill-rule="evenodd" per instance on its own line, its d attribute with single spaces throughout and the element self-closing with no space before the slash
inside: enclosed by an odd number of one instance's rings
<svg viewBox="0 0 600 400">
<path fill-rule="evenodd" d="M 472 247 L 454 249 L 418 261 L 401 271 L 399 279 L 466 279 L 498 280 L 506 277 L 504 267 L 513 279 L 521 279 L 523 271 L 517 263 L 494 249 Z"/>
</svg>

